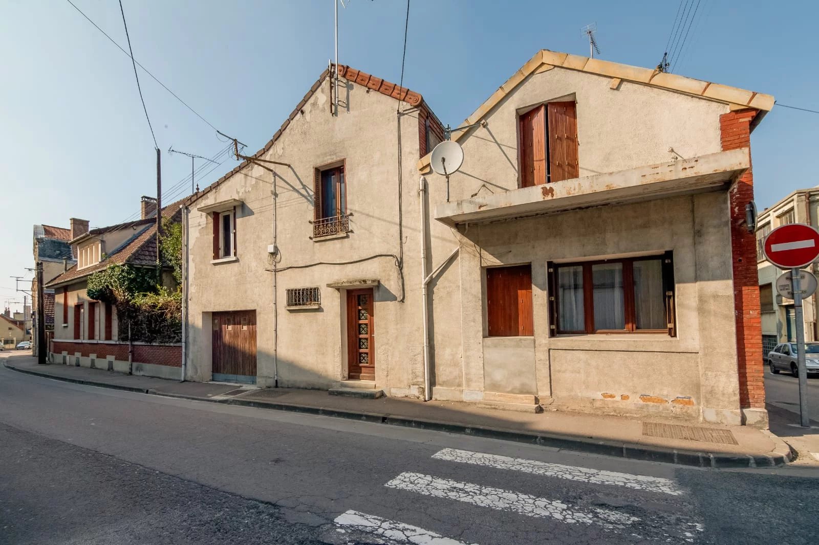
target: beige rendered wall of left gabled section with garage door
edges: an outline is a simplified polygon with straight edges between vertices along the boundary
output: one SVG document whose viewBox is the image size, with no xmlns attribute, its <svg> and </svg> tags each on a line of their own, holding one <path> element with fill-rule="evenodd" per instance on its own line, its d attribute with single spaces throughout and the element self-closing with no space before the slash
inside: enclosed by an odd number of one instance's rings
<svg viewBox="0 0 819 545">
<path fill-rule="evenodd" d="M 376 382 L 387 394 L 418 394 L 423 385 L 419 301 L 418 118 L 400 119 L 404 282 L 396 268 L 398 231 L 398 141 L 396 107 L 405 103 L 358 85 L 344 85 L 342 111 L 329 113 L 325 79 L 296 114 L 264 159 L 274 166 L 278 188 L 278 384 L 327 388 L 346 376 L 345 291 L 328 283 L 375 279 Z M 346 107 L 344 106 L 346 105 Z M 272 131 L 271 131 L 272 132 Z M 314 168 L 346 161 L 349 236 L 313 241 Z M 274 376 L 273 174 L 251 165 L 192 206 L 190 241 L 190 357 L 188 379 L 210 379 L 210 320 L 213 312 L 256 309 L 257 384 Z M 240 199 L 238 260 L 211 263 L 212 219 L 197 208 Z M 374 257 L 378 256 L 378 257 Z M 372 258 L 372 259 L 368 259 Z M 314 263 L 340 263 L 343 265 Z M 319 286 L 321 307 L 284 309 L 287 288 Z M 405 296 L 405 302 L 399 300 Z"/>
</svg>

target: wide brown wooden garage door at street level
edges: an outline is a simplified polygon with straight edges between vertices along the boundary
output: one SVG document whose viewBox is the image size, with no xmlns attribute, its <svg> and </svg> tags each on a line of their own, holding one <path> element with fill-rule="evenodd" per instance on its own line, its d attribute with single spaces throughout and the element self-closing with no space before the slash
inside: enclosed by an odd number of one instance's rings
<svg viewBox="0 0 819 545">
<path fill-rule="evenodd" d="M 213 380 L 256 384 L 256 311 L 213 313 Z"/>
</svg>

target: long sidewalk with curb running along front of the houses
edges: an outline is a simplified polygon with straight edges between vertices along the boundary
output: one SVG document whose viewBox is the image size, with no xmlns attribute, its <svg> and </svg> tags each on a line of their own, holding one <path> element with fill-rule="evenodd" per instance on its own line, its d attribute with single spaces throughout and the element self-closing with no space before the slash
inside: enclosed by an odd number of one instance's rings
<svg viewBox="0 0 819 545">
<path fill-rule="evenodd" d="M 790 448 L 779 437 L 746 426 L 708 426 L 659 419 L 643 422 L 573 412 L 508 412 L 479 408 L 473 403 L 346 398 L 328 395 L 323 390 L 248 390 L 238 385 L 175 382 L 85 367 L 38 365 L 30 356 L 3 358 L 3 363 L 15 371 L 77 384 L 505 439 L 636 460 L 700 467 L 771 467 L 792 459 Z"/>
</svg>

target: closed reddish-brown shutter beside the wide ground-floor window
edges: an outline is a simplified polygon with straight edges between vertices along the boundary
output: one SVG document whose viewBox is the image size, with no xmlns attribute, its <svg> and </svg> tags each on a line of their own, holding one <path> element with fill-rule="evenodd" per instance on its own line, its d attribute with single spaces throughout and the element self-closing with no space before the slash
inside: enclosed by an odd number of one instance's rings
<svg viewBox="0 0 819 545">
<path fill-rule="evenodd" d="M 532 266 L 486 269 L 489 336 L 532 336 Z"/>
</svg>

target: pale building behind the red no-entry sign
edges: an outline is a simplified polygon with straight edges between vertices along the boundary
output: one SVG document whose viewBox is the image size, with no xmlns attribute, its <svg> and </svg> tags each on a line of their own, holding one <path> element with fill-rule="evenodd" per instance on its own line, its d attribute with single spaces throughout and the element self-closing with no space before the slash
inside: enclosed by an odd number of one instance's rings
<svg viewBox="0 0 819 545">
<path fill-rule="evenodd" d="M 762 352 L 767 354 L 779 343 L 796 340 L 794 301 L 776 293 L 776 278 L 785 271 L 765 260 L 762 244 L 776 227 L 789 223 L 804 223 L 817 227 L 819 187 L 799 189 L 762 211 L 757 218 L 757 267 L 759 275 L 759 304 L 762 309 Z M 817 263 L 809 268 L 819 272 Z M 817 296 L 803 300 L 805 340 L 814 341 L 817 335 Z"/>
</svg>

